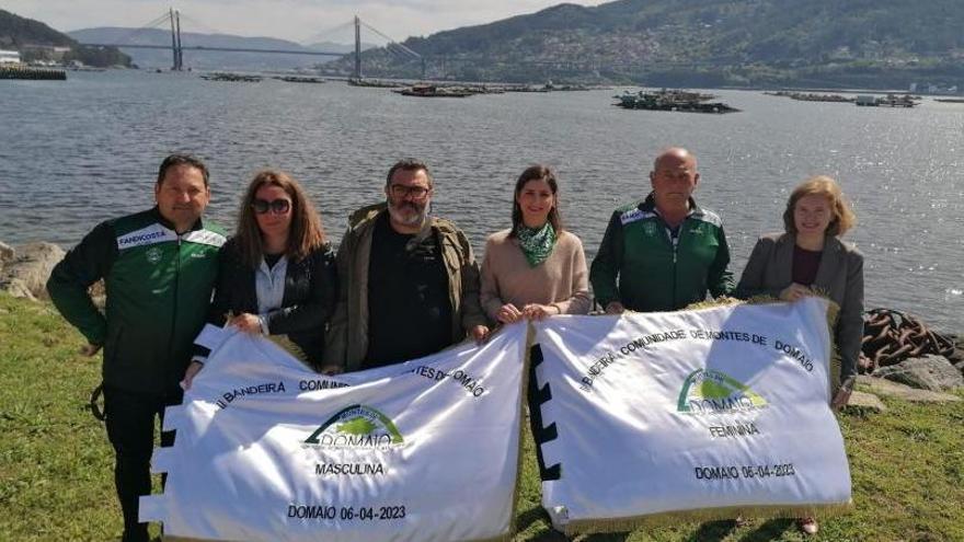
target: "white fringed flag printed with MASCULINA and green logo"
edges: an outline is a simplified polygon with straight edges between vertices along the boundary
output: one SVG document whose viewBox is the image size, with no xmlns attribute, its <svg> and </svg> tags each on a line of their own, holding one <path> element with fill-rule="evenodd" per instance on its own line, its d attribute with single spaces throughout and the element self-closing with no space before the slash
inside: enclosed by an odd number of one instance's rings
<svg viewBox="0 0 964 542">
<path fill-rule="evenodd" d="M 231 541 L 510 535 L 527 327 L 405 364 L 324 377 L 264 338 L 213 347 L 164 426 L 142 521 Z"/>
</svg>

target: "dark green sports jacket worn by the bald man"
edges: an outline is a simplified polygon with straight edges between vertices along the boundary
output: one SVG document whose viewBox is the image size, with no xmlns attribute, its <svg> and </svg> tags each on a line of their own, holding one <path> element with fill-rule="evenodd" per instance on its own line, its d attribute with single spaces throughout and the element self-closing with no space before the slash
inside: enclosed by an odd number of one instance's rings
<svg viewBox="0 0 964 542">
<path fill-rule="evenodd" d="M 690 215 L 673 246 L 653 194 L 612 214 L 589 280 L 602 308 L 620 301 L 633 311 L 675 311 L 733 291 L 730 249 L 720 217 L 690 199 Z"/>
</svg>

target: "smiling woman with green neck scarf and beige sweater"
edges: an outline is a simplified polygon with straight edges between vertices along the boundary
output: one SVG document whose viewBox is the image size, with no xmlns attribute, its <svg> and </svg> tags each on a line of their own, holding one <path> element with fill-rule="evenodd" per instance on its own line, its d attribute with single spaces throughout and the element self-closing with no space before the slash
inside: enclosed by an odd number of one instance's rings
<svg viewBox="0 0 964 542">
<path fill-rule="evenodd" d="M 583 243 L 562 229 L 558 193 L 555 174 L 544 165 L 519 175 L 513 227 L 485 242 L 481 300 L 490 319 L 509 324 L 589 312 Z"/>
</svg>

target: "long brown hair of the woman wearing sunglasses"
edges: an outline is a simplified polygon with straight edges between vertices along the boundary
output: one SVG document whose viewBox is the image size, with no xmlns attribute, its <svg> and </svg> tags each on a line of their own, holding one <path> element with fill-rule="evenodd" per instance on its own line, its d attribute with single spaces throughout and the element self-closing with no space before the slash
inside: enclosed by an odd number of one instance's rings
<svg viewBox="0 0 964 542">
<path fill-rule="evenodd" d="M 291 198 L 291 229 L 288 231 L 288 246 L 285 249 L 288 258 L 295 262 L 303 260 L 325 242 L 321 216 L 314 210 L 311 199 L 305 194 L 298 181 L 282 171 L 262 171 L 251 180 L 248 192 L 241 199 L 241 208 L 238 210 L 238 231 L 234 233 L 241 260 L 252 269 L 261 265 L 264 254 L 261 246 L 261 229 L 257 227 L 251 205 L 257 191 L 266 185 L 282 188 Z"/>
</svg>

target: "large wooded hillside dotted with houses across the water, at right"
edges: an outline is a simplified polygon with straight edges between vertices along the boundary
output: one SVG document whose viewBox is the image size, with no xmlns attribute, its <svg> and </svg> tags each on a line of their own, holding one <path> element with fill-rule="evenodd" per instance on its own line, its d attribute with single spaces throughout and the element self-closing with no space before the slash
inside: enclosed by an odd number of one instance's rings
<svg viewBox="0 0 964 542">
<path fill-rule="evenodd" d="M 618 0 L 404 45 L 431 78 L 907 88 L 964 83 L 962 27 L 960 0 Z M 363 55 L 370 77 L 420 77 L 422 66 L 393 47 Z"/>
</svg>

